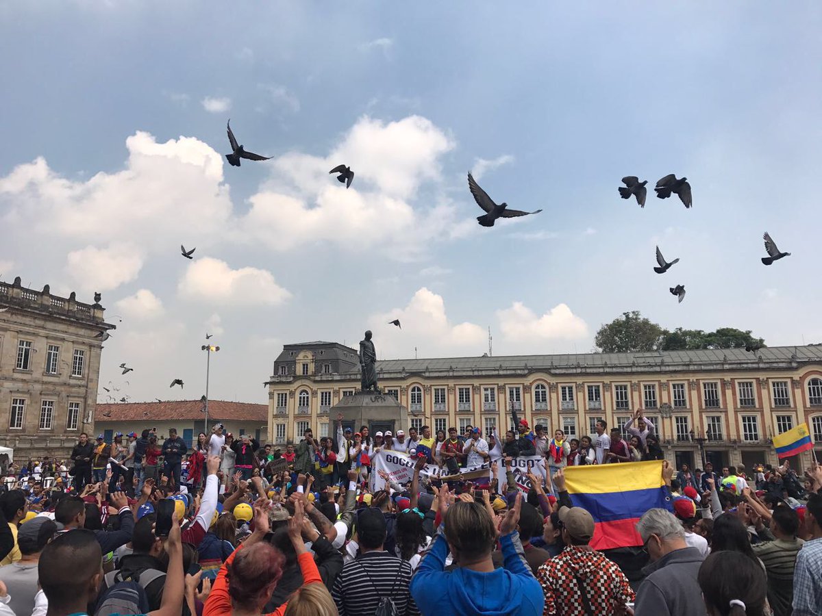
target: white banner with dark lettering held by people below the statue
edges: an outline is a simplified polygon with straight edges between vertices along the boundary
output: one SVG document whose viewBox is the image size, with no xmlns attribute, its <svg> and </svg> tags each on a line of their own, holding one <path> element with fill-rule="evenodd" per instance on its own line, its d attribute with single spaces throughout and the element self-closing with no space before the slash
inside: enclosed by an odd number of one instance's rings
<svg viewBox="0 0 822 616">
<path fill-rule="evenodd" d="M 381 451 L 376 453 L 371 458 L 372 474 L 371 486 L 372 490 L 382 490 L 386 486 L 385 480 L 379 475 L 379 471 L 385 471 L 394 483 L 399 485 L 408 485 L 413 476 L 413 467 L 416 461 L 407 453 L 400 453 L 395 451 Z M 500 466 L 500 486 L 501 492 L 507 490 L 506 469 L 505 462 L 499 461 Z M 468 473 L 469 471 L 476 471 L 482 467 L 460 468 L 460 473 Z M 528 480 L 529 471 L 538 473 L 545 480 L 545 458 L 541 456 L 529 457 L 515 457 L 511 461 L 511 472 L 514 475 L 517 487 L 523 492 L 527 493 L 531 490 L 531 482 Z M 446 467 L 440 467 L 436 464 L 426 464 L 420 475 L 426 475 L 433 478 L 448 476 L 450 473 Z M 488 476 L 491 477 L 492 471 L 488 469 Z"/>
</svg>

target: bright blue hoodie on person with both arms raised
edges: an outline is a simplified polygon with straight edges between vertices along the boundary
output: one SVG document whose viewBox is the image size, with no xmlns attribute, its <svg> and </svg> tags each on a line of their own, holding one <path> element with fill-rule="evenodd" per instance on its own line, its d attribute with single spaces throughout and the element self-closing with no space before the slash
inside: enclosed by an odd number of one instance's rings
<svg viewBox="0 0 822 616">
<path fill-rule="evenodd" d="M 500 537 L 503 568 L 482 573 L 456 568 L 444 571 L 448 542 L 442 533 L 411 580 L 411 596 L 421 614 L 539 616 L 545 607 L 543 589 L 518 552 L 517 531 Z"/>
</svg>

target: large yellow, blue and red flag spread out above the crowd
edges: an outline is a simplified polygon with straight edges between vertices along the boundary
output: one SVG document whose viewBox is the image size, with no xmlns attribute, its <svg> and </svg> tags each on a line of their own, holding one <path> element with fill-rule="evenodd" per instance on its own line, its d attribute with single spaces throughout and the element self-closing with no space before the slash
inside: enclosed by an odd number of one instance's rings
<svg viewBox="0 0 822 616">
<path fill-rule="evenodd" d="M 574 506 L 593 517 L 593 549 L 642 545 L 635 528 L 642 514 L 653 508 L 672 511 L 662 461 L 567 467 L 565 476 Z"/>
</svg>

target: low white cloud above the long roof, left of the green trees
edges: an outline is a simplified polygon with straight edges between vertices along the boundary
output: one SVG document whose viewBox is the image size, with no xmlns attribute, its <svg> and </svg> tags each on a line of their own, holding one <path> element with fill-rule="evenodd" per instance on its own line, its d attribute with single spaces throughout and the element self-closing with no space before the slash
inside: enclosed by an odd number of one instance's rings
<svg viewBox="0 0 822 616">
<path fill-rule="evenodd" d="M 510 308 L 497 310 L 496 315 L 500 319 L 502 335 L 511 342 L 588 336 L 588 325 L 566 304 L 557 304 L 544 315 L 537 316 L 522 302 L 515 301 Z"/>
</svg>

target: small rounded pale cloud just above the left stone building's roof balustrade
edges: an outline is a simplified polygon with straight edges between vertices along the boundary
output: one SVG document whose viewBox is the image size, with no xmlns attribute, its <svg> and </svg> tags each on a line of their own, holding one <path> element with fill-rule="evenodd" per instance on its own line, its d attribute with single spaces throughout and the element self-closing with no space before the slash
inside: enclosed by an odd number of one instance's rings
<svg viewBox="0 0 822 616">
<path fill-rule="evenodd" d="M 85 246 L 68 253 L 66 274 L 81 290 L 110 291 L 134 280 L 142 266 L 143 256 L 134 245 Z"/>
</svg>

